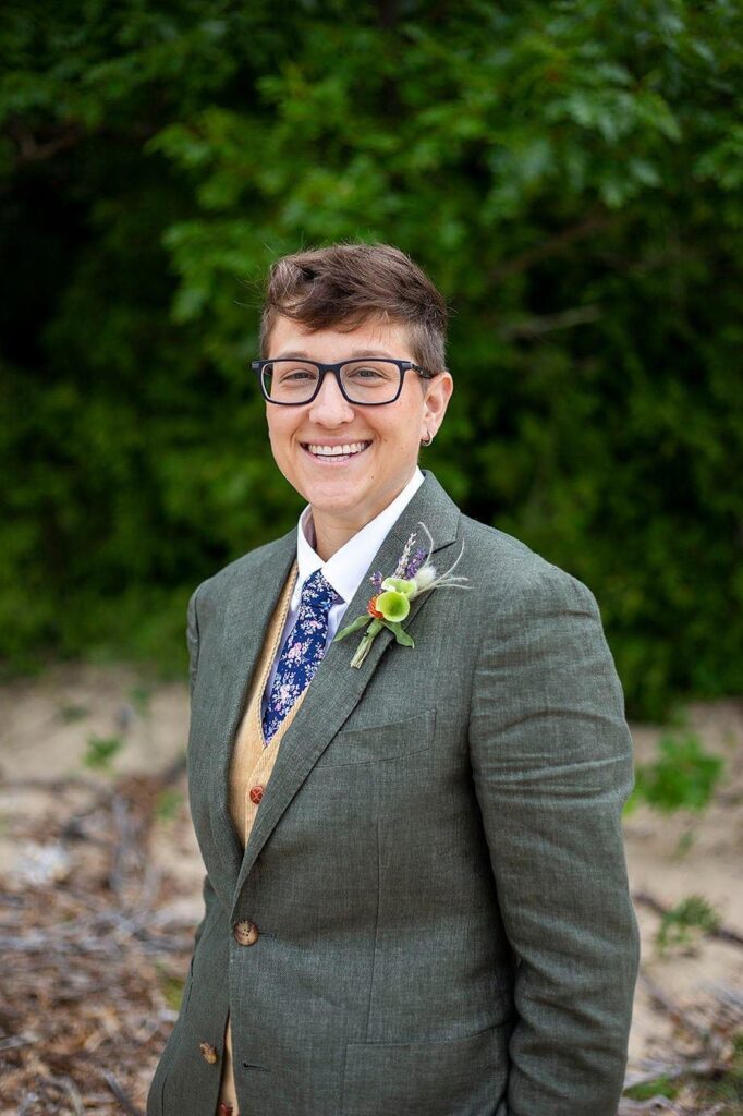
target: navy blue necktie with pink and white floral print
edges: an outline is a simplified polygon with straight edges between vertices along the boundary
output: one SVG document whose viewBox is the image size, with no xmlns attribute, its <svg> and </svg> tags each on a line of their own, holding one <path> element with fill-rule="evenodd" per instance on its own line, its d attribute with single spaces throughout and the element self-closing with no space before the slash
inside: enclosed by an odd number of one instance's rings
<svg viewBox="0 0 743 1116">
<path fill-rule="evenodd" d="M 330 606 L 342 599 L 319 569 L 305 581 L 297 620 L 279 656 L 263 711 L 264 745 L 271 742 L 289 710 L 310 684 L 325 655 Z"/>
</svg>

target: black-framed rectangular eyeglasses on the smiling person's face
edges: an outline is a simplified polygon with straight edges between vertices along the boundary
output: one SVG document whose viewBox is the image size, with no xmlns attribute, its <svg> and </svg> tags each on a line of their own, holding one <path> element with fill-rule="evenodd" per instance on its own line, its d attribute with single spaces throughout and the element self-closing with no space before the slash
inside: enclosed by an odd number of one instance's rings
<svg viewBox="0 0 743 1116">
<path fill-rule="evenodd" d="M 376 356 L 340 360 L 338 364 L 280 357 L 277 360 L 253 360 L 251 367 L 258 375 L 263 398 L 289 407 L 311 403 L 328 372 L 336 377 L 345 400 L 365 407 L 394 403 L 403 389 L 406 372 L 415 372 L 423 379 L 433 379 L 436 375 L 412 360 Z"/>
</svg>

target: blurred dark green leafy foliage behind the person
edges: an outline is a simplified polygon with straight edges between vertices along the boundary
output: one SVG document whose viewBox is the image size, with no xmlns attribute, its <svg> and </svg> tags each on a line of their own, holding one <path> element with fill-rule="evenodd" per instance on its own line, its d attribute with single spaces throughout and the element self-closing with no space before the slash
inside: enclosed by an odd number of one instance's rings
<svg viewBox="0 0 743 1116">
<path fill-rule="evenodd" d="M 422 463 L 596 593 L 630 712 L 740 689 L 743 9 L 104 0 L 0 27 L 0 654 L 184 668 L 276 537 L 260 282 L 382 240 L 453 308 Z"/>
</svg>

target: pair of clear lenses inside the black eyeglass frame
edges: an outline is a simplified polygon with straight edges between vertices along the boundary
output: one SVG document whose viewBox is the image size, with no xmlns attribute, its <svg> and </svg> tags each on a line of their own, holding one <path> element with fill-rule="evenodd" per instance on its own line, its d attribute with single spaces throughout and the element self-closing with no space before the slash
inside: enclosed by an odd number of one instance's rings
<svg viewBox="0 0 743 1116">
<path fill-rule="evenodd" d="M 389 403 L 399 389 L 402 371 L 392 360 L 349 360 L 340 381 L 354 403 Z M 272 360 L 263 366 L 263 387 L 279 403 L 305 403 L 315 394 L 320 373 L 303 360 Z"/>
</svg>

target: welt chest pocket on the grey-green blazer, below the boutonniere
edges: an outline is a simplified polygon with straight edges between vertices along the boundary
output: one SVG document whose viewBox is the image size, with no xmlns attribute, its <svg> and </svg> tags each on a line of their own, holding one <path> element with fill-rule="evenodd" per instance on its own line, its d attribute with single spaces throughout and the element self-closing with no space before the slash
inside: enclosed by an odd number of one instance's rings
<svg viewBox="0 0 743 1116">
<path fill-rule="evenodd" d="M 413 716 L 378 724 L 356 727 L 353 723 L 338 732 L 316 763 L 317 768 L 347 767 L 351 763 L 376 763 L 402 756 L 426 751 L 433 745 L 436 710 L 425 709 Z"/>
</svg>

